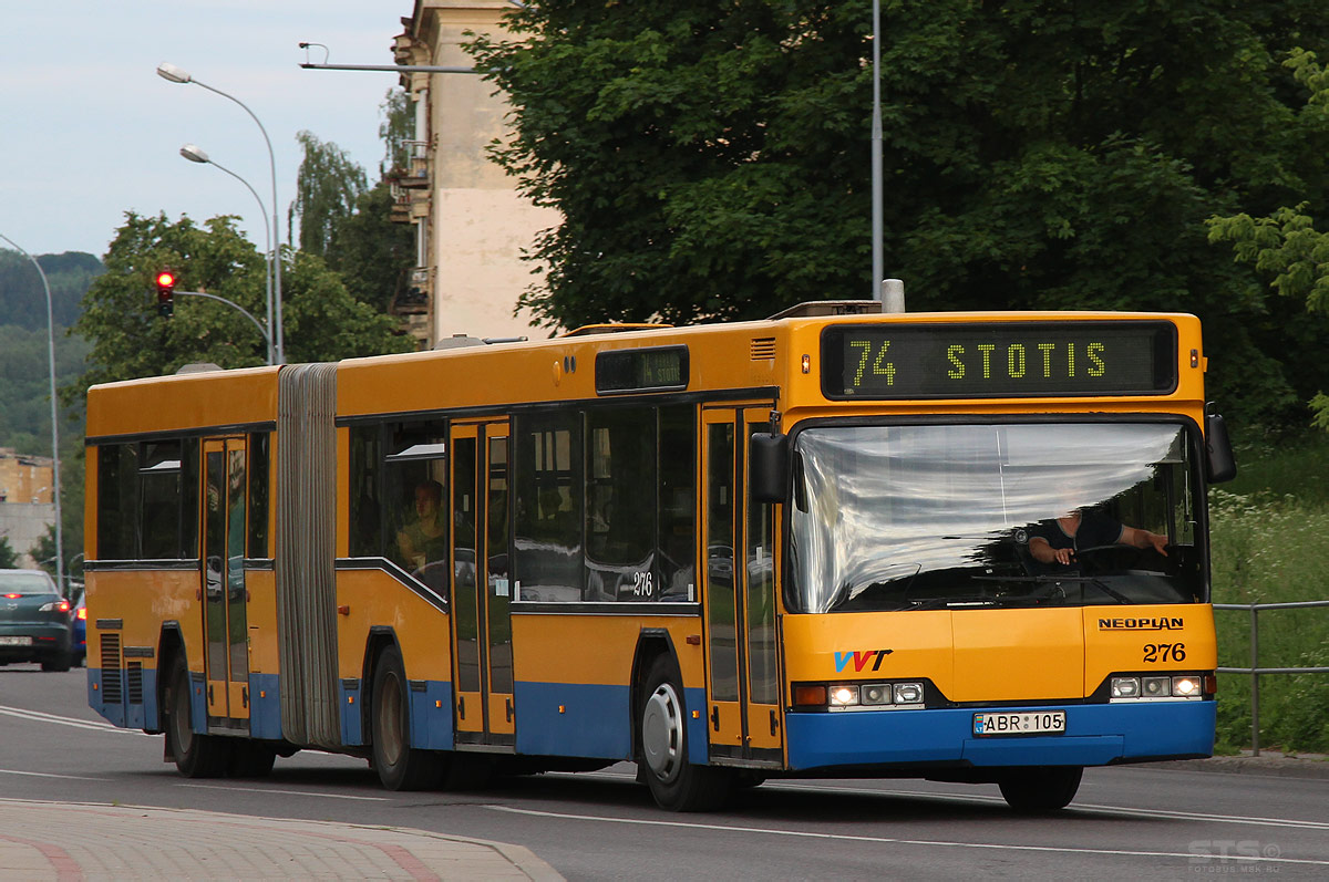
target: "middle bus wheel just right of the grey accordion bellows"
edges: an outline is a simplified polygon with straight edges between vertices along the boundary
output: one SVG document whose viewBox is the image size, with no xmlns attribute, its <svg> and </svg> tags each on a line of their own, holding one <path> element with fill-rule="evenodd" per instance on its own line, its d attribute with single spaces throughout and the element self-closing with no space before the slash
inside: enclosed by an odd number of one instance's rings
<svg viewBox="0 0 1329 882">
<path fill-rule="evenodd" d="M 389 790 L 427 790 L 443 778 L 443 757 L 411 747 L 411 692 L 401 651 L 388 646 L 373 665 L 373 768 Z"/>
</svg>

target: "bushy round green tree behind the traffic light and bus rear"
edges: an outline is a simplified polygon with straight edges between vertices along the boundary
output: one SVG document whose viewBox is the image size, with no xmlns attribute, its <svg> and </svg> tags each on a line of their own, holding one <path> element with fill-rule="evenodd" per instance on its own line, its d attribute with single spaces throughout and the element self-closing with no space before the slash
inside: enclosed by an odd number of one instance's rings
<svg viewBox="0 0 1329 882">
<path fill-rule="evenodd" d="M 203 291 L 264 317 L 262 255 L 235 228 L 231 217 L 202 227 L 189 218 L 129 213 L 106 252 L 106 274 L 84 298 L 74 331 L 92 343 L 89 368 L 73 392 L 94 383 L 173 373 L 183 364 L 211 361 L 223 368 L 264 363 L 259 331 L 235 309 L 202 298 L 177 296 L 175 315 L 159 319 L 153 275 L 171 267 L 177 291 Z M 283 321 L 287 360 L 319 361 L 396 352 L 407 344 L 392 320 L 354 299 L 336 274 L 315 255 L 283 255 Z"/>
</svg>

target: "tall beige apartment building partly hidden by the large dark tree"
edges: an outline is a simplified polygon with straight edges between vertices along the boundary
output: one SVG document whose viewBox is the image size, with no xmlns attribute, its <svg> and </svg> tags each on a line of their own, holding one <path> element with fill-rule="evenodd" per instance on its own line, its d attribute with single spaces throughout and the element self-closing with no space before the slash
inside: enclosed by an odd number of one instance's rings
<svg viewBox="0 0 1329 882">
<path fill-rule="evenodd" d="M 465 32 L 497 33 L 506 0 L 416 0 L 396 39 L 399 65 L 470 66 Z M 541 230 L 560 222 L 518 195 L 486 146 L 508 137 L 508 104 L 473 73 L 404 73 L 415 108 L 409 167 L 393 182 L 396 219 L 416 232 L 416 268 L 396 312 L 425 348 L 457 335 L 549 336 L 514 315 L 534 280 L 522 260 Z"/>
</svg>

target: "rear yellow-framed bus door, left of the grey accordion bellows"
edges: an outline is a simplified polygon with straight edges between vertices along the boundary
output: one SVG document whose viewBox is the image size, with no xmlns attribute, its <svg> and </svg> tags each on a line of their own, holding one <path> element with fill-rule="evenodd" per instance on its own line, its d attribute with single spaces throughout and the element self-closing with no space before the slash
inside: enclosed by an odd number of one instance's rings
<svg viewBox="0 0 1329 882">
<path fill-rule="evenodd" d="M 247 728 L 249 626 L 245 588 L 245 438 L 203 441 L 203 671 L 210 725 Z"/>
</svg>

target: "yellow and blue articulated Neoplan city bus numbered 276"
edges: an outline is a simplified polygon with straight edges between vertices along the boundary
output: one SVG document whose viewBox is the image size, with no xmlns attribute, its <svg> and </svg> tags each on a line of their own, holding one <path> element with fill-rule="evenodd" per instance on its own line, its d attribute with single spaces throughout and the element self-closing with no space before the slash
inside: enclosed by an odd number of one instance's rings
<svg viewBox="0 0 1329 882">
<path fill-rule="evenodd" d="M 631 760 L 675 810 L 1207 756 L 1199 321 L 876 306 L 93 388 L 92 707 L 186 776 Z"/>
</svg>

